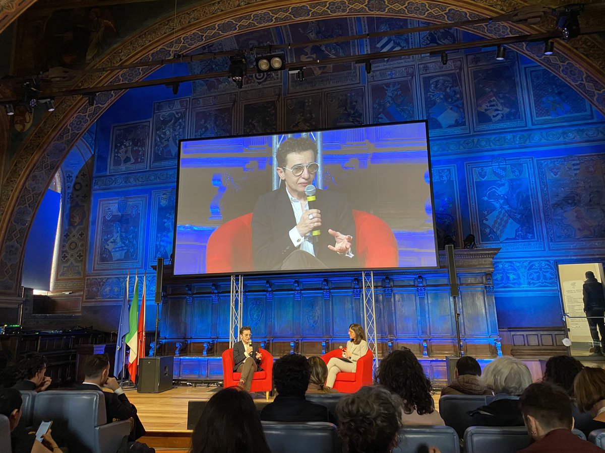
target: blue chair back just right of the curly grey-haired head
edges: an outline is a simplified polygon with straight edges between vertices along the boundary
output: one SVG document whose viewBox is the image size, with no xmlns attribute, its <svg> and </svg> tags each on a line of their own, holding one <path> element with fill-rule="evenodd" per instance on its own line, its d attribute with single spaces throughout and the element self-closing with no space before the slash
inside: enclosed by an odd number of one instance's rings
<svg viewBox="0 0 605 453">
<path fill-rule="evenodd" d="M 441 453 L 460 453 L 458 435 L 450 426 L 404 426 L 393 453 L 416 453 L 423 443 L 439 448 Z"/>
</svg>

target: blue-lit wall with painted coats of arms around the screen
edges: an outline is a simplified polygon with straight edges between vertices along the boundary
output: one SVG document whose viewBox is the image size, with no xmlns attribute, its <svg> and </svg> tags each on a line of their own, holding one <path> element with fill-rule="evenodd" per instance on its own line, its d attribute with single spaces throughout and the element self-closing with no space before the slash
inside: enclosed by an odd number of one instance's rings
<svg viewBox="0 0 605 453">
<path fill-rule="evenodd" d="M 392 20 L 376 18 L 384 29 Z M 361 33 L 359 21 L 321 22 Z M 432 42 L 426 35 L 397 37 L 397 45 Z M 350 54 L 356 45 L 337 46 Z M 440 243 L 451 236 L 460 246 L 473 233 L 479 247 L 501 248 L 493 275 L 500 329 L 561 328 L 557 262 L 605 260 L 605 121 L 537 63 L 511 50 L 502 62 L 493 57 L 456 51 L 445 66 L 425 55 L 376 62 L 370 74 L 355 65 L 313 69 L 304 82 L 272 72 L 248 77 L 241 90 L 221 79 L 181 84 L 177 95 L 164 86 L 126 92 L 96 123 L 85 301 L 122 300 L 126 269 L 140 273 L 169 257 L 178 138 L 427 118 Z M 153 77 L 227 65 L 204 60 Z"/>
</svg>

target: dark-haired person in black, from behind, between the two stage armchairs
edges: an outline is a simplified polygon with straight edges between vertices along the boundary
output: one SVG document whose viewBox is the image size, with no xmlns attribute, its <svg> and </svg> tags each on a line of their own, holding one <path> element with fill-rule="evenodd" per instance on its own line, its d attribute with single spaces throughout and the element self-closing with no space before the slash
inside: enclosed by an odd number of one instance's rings
<svg viewBox="0 0 605 453">
<path fill-rule="evenodd" d="M 273 364 L 273 385 L 278 395 L 264 406 L 261 420 L 271 422 L 331 422 L 335 419 L 325 406 L 307 401 L 309 362 L 299 354 L 287 354 Z"/>
</svg>

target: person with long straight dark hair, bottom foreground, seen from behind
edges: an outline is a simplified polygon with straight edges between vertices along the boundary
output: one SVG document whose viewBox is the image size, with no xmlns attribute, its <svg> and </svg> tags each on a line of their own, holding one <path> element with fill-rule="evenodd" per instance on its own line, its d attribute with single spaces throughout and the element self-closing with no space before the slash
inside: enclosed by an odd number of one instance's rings
<svg viewBox="0 0 605 453">
<path fill-rule="evenodd" d="M 191 435 L 191 453 L 271 453 L 252 397 L 224 388 L 204 407 Z"/>
</svg>

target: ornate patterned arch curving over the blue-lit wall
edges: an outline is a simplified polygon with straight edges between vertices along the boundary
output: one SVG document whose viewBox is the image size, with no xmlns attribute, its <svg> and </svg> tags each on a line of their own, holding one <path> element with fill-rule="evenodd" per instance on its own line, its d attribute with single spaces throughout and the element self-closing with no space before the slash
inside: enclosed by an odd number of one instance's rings
<svg viewBox="0 0 605 453">
<path fill-rule="evenodd" d="M 382 15 L 422 19 L 431 22 L 453 22 L 491 17 L 523 6 L 522 2 L 508 0 L 480 2 L 466 0 L 441 2 L 406 2 L 376 0 L 368 5 L 353 0 L 301 2 L 284 6 L 278 0 L 246 2 L 218 0 L 180 11 L 177 17 L 164 18 L 146 30 L 124 40 L 98 63 L 113 66 L 120 63 L 171 56 L 172 50 L 184 51 L 233 34 L 257 27 L 273 27 L 310 19 L 338 16 Z M 377 12 L 379 10 L 379 12 Z M 176 33 L 174 27 L 176 23 Z M 473 29 L 473 33 L 498 37 L 511 31 L 535 32 L 537 27 L 526 25 L 490 24 Z M 175 45 L 173 47 L 173 39 Z M 579 37 L 575 47 L 567 43 L 557 46 L 557 53 L 538 59 L 536 50 L 518 45 L 516 50 L 546 66 L 605 113 L 605 53 L 596 40 Z M 577 64 L 574 65 L 576 62 Z M 89 83 L 116 83 L 143 79 L 152 68 L 116 71 L 96 79 L 87 76 L 78 81 Z M 96 80 L 95 80 L 96 79 Z M 0 292 L 14 294 L 21 274 L 24 239 L 28 225 L 38 207 L 41 194 L 51 175 L 56 172 L 68 150 L 79 140 L 88 125 L 96 120 L 121 93 L 103 93 L 97 96 L 93 107 L 81 97 L 65 98 L 57 103 L 56 111 L 22 143 L 4 181 L 0 194 Z"/>
</svg>

